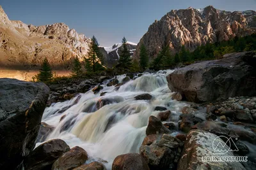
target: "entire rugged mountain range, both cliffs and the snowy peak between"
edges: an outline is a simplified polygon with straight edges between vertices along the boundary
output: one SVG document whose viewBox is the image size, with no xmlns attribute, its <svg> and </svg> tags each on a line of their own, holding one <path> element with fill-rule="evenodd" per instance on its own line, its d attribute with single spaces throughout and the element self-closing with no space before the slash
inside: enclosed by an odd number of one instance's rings
<svg viewBox="0 0 256 170">
<path fill-rule="evenodd" d="M 198 45 L 253 32 L 256 32 L 255 11 L 231 12 L 213 6 L 188 8 L 172 10 L 161 20 L 155 20 L 138 45 L 127 42 L 127 46 L 132 57 L 139 59 L 140 46 L 144 44 L 152 60 L 166 45 L 173 53 L 179 52 L 182 45 L 193 51 Z M 0 67 L 36 67 L 47 57 L 52 67 L 69 69 L 74 57 L 82 60 L 86 56 L 89 43 L 90 38 L 63 23 L 35 26 L 9 20 L 0 6 Z M 107 67 L 117 64 L 121 50 L 121 43 L 100 46 Z"/>
</svg>

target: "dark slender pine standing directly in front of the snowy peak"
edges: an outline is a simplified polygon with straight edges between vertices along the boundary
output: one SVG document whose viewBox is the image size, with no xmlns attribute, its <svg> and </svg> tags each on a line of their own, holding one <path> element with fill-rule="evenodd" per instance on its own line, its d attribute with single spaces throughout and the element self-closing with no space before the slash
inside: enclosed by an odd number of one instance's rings
<svg viewBox="0 0 256 170">
<path fill-rule="evenodd" d="M 124 37 L 122 39 L 122 50 L 119 59 L 120 67 L 130 69 L 132 65 L 131 53 L 127 48 L 127 41 Z"/>
</svg>

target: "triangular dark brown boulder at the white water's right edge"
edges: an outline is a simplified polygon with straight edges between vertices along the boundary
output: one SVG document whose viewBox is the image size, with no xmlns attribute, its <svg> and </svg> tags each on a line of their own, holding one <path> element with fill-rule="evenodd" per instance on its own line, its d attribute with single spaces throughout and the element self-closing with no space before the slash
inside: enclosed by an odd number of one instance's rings
<svg viewBox="0 0 256 170">
<path fill-rule="evenodd" d="M 170 133 L 170 130 L 167 129 L 157 117 L 150 116 L 148 119 L 146 134 L 150 135 L 150 134 L 161 134 L 161 133 L 168 134 Z"/>
</svg>

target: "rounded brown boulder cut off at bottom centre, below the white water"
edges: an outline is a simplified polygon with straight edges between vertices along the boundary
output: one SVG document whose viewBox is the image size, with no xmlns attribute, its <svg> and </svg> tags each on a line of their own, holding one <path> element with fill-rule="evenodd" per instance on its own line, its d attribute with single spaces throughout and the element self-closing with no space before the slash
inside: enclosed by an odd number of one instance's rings
<svg viewBox="0 0 256 170">
<path fill-rule="evenodd" d="M 147 162 L 138 153 L 118 155 L 112 164 L 112 170 L 149 170 Z"/>
</svg>

